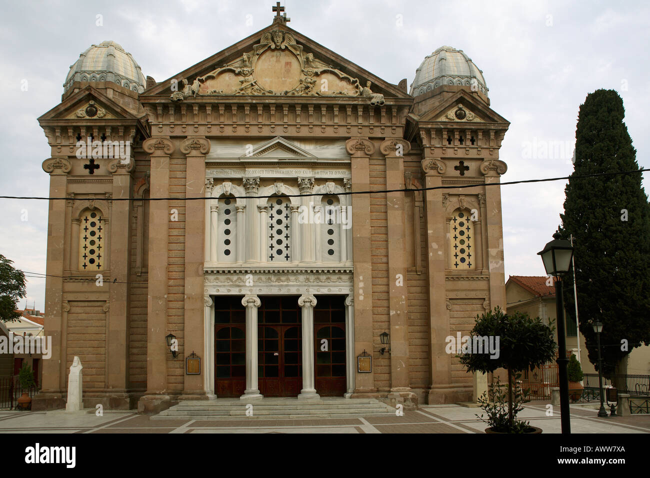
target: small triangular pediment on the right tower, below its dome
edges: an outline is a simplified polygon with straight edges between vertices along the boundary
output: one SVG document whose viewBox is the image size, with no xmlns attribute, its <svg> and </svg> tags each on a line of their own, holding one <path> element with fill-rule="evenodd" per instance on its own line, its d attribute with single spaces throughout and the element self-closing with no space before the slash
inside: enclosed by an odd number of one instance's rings
<svg viewBox="0 0 650 478">
<path fill-rule="evenodd" d="M 456 92 L 422 114 L 419 122 L 420 124 L 423 122 L 510 124 L 503 116 L 465 90 Z"/>
</svg>

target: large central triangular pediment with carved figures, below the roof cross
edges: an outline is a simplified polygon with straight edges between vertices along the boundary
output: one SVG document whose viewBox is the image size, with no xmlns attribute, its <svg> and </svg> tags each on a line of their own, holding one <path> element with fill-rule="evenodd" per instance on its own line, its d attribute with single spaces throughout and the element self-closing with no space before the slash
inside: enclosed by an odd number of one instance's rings
<svg viewBox="0 0 650 478">
<path fill-rule="evenodd" d="M 367 82 L 370 82 L 368 87 Z M 183 101 L 219 96 L 411 98 L 282 23 L 274 23 L 142 93 Z"/>
</svg>

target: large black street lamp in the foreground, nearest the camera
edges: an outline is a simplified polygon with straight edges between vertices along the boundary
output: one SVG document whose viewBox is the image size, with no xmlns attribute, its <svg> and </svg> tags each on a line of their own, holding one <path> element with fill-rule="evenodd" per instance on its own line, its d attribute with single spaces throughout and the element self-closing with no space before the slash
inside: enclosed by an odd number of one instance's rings
<svg viewBox="0 0 650 478">
<path fill-rule="evenodd" d="M 544 269 L 549 276 L 555 277 L 555 305 L 558 317 L 558 372 L 560 375 L 560 423 L 562 433 L 571 433 L 569 417 L 569 359 L 566 356 L 566 338 L 564 332 L 564 296 L 562 295 L 562 275 L 569 272 L 573 247 L 569 241 L 560 239 L 560 233 L 553 234 L 553 240 L 537 253 L 541 256 Z"/>
</svg>

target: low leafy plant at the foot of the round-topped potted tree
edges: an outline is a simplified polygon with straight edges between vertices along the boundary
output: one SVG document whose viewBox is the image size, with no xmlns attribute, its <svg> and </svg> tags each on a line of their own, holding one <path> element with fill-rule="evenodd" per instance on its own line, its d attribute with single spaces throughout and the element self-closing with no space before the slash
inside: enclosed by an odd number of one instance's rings
<svg viewBox="0 0 650 478">
<path fill-rule="evenodd" d="M 478 404 L 487 414 L 476 414 L 476 417 L 487 423 L 491 429 L 499 433 L 526 433 L 532 428 L 530 422 L 517 420 L 517 413 L 523 410 L 523 403 L 528 399 L 528 390 L 517 387 L 514 395 L 512 408 L 512 423 L 510 421 L 510 404 L 508 403 L 508 388 L 502 385 L 499 378 L 497 382 L 490 384 L 489 395 L 484 392 L 478 398 Z"/>
</svg>

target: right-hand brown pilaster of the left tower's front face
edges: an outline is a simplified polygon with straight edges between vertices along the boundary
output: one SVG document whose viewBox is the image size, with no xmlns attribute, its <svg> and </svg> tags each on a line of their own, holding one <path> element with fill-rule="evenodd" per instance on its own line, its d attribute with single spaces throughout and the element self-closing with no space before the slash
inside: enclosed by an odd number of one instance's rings
<svg viewBox="0 0 650 478">
<path fill-rule="evenodd" d="M 129 158 L 127 163 L 122 159 L 113 159 L 109 162 L 109 171 L 113 175 L 112 197 L 130 198 L 133 196 L 133 178 L 131 173 L 135 170 L 135 161 Z M 127 282 L 131 271 L 131 201 L 116 201 L 112 204 L 110 215 L 110 232 L 107 231 L 108 248 L 106 249 L 106 269 L 110 269 L 112 278 L 117 279 L 113 284 L 109 282 L 110 308 L 107 313 L 110 324 L 106 340 L 106 349 L 109 352 L 107 361 L 107 382 L 110 388 L 111 408 L 129 408 L 126 395 L 129 364 L 129 330 L 128 317 L 130 315 L 129 289 Z M 105 224 L 109 228 L 108 224 Z M 109 255 L 110 254 L 110 255 Z M 106 280 L 106 278 L 105 278 Z M 118 405 L 118 399 L 121 399 Z"/>
</svg>

